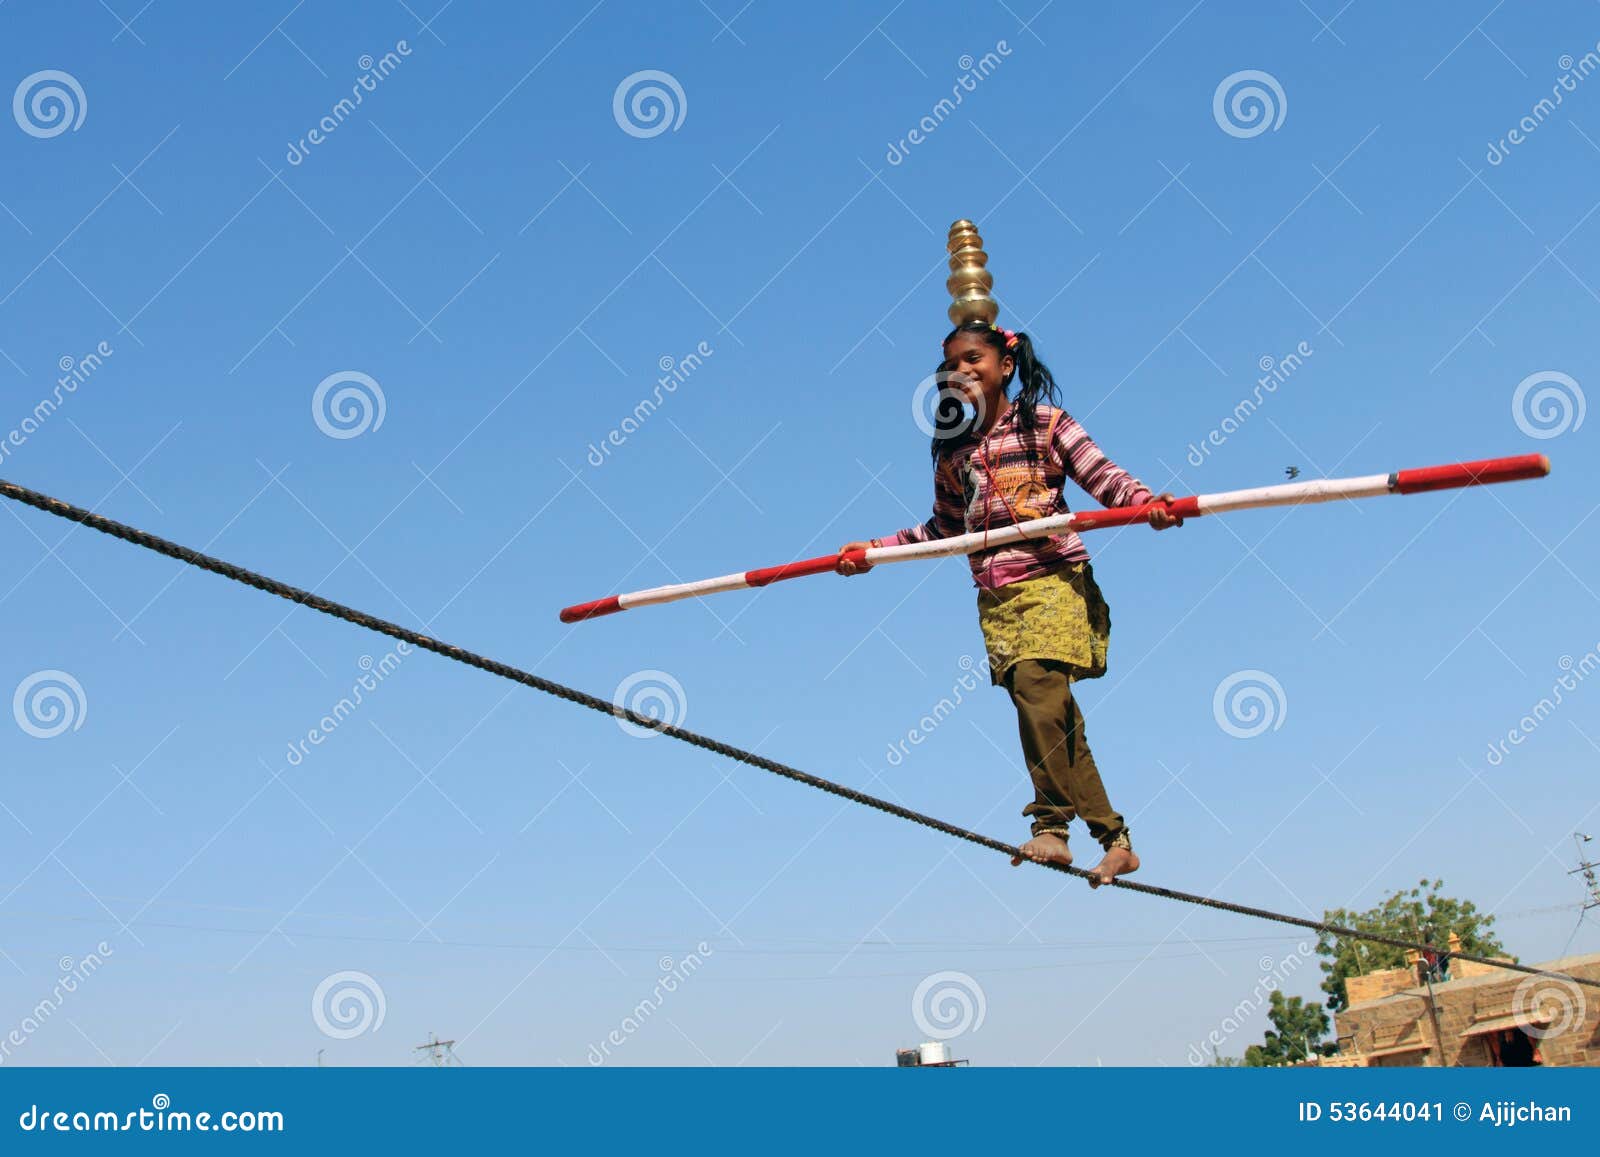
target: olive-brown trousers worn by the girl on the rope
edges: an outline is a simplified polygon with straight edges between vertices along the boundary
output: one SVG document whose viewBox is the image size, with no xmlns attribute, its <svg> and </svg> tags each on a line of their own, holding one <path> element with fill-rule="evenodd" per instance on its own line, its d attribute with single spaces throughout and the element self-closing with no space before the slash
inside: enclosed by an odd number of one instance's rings
<svg viewBox="0 0 1600 1157">
<path fill-rule="evenodd" d="M 1005 690 L 1016 704 L 1022 755 L 1034 778 L 1034 802 L 1022 808 L 1034 819 L 1034 835 L 1067 834 L 1074 818 L 1109 848 L 1128 826 L 1112 808 L 1099 768 L 1083 736 L 1083 712 L 1072 698 L 1072 667 L 1056 659 L 1018 659 L 1005 674 Z"/>
</svg>

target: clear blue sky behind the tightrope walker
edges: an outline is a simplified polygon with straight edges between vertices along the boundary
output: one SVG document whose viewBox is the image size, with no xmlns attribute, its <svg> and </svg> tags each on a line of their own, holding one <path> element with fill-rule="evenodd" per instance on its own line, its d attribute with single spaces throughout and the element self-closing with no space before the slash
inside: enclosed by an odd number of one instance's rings
<svg viewBox="0 0 1600 1157">
<path fill-rule="evenodd" d="M 77 91 L 75 126 L 27 99 L 0 123 L 0 475 L 602 696 L 646 672 L 694 730 L 1021 839 L 960 560 L 555 618 L 926 517 L 910 398 L 973 218 L 1002 320 L 1158 490 L 1554 462 L 1090 541 L 1115 629 L 1082 703 L 1141 879 L 1318 915 L 1437 875 L 1523 960 L 1597 951 L 1566 869 L 1600 826 L 1600 685 L 1488 759 L 1600 647 L 1597 42 L 1578 0 L 13 0 L 8 90 Z M 614 112 L 646 70 L 672 128 Z M 1245 70 L 1275 126 L 1214 114 Z M 381 422 L 317 419 L 341 374 Z M 938 973 L 982 1008 L 952 1042 L 978 1064 L 1186 1064 L 1301 941 L 430 655 L 291 762 L 386 640 L 22 507 L 0 533 L 0 691 L 75 682 L 59 735 L 0 727 L 0 1027 L 109 951 L 11 1064 L 410 1064 L 429 1032 L 472 1064 L 586 1064 L 613 1032 L 616 1064 L 885 1064 Z M 1213 707 L 1237 672 L 1282 688 L 1251 738 Z M 354 1035 L 312 1011 L 341 973 L 374 1008 Z"/>
</svg>

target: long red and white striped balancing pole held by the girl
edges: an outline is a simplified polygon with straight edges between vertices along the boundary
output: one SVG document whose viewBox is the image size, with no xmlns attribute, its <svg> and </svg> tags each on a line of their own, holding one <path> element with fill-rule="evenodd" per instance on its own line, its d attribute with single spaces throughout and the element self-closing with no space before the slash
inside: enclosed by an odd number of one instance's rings
<svg viewBox="0 0 1600 1157">
<path fill-rule="evenodd" d="M 1048 518 L 1034 518 L 992 531 L 974 531 L 971 534 L 955 534 L 939 538 L 931 542 L 910 542 L 907 546 L 880 546 L 869 550 L 848 550 L 824 554 L 816 558 L 784 563 L 782 566 L 762 566 L 738 574 L 699 579 L 698 583 L 677 583 L 674 586 L 634 591 L 626 595 L 611 595 L 589 603 L 566 607 L 562 611 L 562 623 L 582 623 L 602 615 L 632 610 L 634 607 L 654 607 L 670 603 L 678 599 L 698 599 L 701 595 L 718 594 L 722 591 L 746 591 L 749 587 L 765 587 L 784 579 L 802 578 L 805 574 L 822 574 L 838 566 L 840 560 L 867 562 L 874 566 L 886 562 L 910 562 L 912 558 L 942 558 L 952 554 L 973 554 L 997 546 L 1006 546 L 1027 538 L 1045 538 L 1061 534 L 1069 530 L 1101 530 L 1102 526 L 1126 526 L 1134 522 L 1146 522 L 1152 510 L 1165 509 L 1176 518 L 1195 518 L 1203 514 L 1227 514 L 1229 510 L 1253 510 L 1267 506 L 1301 506 L 1307 502 L 1333 502 L 1344 498 L 1378 498 L 1379 494 L 1419 494 L 1426 490 L 1453 490 L 1458 486 L 1482 486 L 1493 482 L 1517 482 L 1518 478 L 1542 478 L 1550 472 L 1550 459 L 1544 454 L 1520 454 L 1517 458 L 1486 458 L 1477 462 L 1451 462 L 1448 466 L 1424 466 L 1414 470 L 1395 470 L 1392 474 L 1368 474 L 1358 478 L 1317 478 L 1312 482 L 1290 482 L 1278 486 L 1256 486 L 1254 490 L 1227 490 L 1219 494 L 1190 494 L 1173 502 L 1147 502 L 1144 506 L 1122 506 L 1110 510 L 1078 510 L 1074 514 L 1054 514 Z"/>
</svg>

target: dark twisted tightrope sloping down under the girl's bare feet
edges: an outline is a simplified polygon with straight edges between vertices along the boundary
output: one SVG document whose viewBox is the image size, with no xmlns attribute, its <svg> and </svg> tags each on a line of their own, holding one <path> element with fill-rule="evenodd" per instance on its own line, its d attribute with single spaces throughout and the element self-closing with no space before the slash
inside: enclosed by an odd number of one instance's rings
<svg viewBox="0 0 1600 1157">
<path fill-rule="evenodd" d="M 715 752 L 726 759 L 739 763 L 747 763 L 750 767 L 762 768 L 763 771 L 771 771 L 786 779 L 794 779 L 808 787 L 816 787 L 830 795 L 838 795 L 840 799 L 850 800 L 851 803 L 861 803 L 869 808 L 877 808 L 891 816 L 901 819 L 909 819 L 914 824 L 922 824 L 923 827 L 931 827 L 944 835 L 954 835 L 958 840 L 966 840 L 968 843 L 976 843 L 978 847 L 998 851 L 1006 856 L 1019 856 L 1021 850 L 1003 840 L 997 840 L 979 832 L 958 827 L 955 824 L 936 819 L 934 816 L 923 815 L 922 811 L 912 811 L 910 808 L 901 807 L 898 803 L 890 803 L 875 795 L 867 795 L 854 787 L 846 787 L 845 784 L 834 783 L 832 779 L 824 779 L 814 776 L 808 771 L 789 767 L 787 763 L 779 763 L 778 760 L 766 759 L 765 755 L 757 755 L 755 752 L 744 751 L 742 747 L 734 747 L 731 744 L 722 743 L 720 739 L 712 739 L 710 736 L 698 735 L 686 728 L 677 727 L 674 723 L 666 723 L 659 719 L 651 719 L 642 715 L 630 707 L 602 699 L 587 691 L 579 691 L 578 688 L 566 687 L 565 683 L 557 683 L 555 680 L 534 675 L 533 672 L 522 671 L 520 667 L 512 667 L 510 664 L 499 663 L 496 659 L 475 655 L 461 647 L 451 643 L 443 643 L 437 639 L 424 635 L 418 631 L 402 627 L 395 623 L 379 619 L 365 611 L 358 611 L 354 607 L 346 607 L 344 603 L 336 603 L 331 599 L 323 599 L 322 595 L 312 594 L 310 591 L 301 591 L 299 587 L 291 587 L 288 583 L 278 583 L 266 574 L 258 574 L 253 570 L 238 566 L 235 563 L 226 562 L 222 558 L 213 558 L 211 555 L 200 554 L 178 542 L 171 542 L 149 531 L 142 531 L 136 526 L 128 526 L 125 523 L 115 522 L 104 515 L 94 514 L 93 510 L 85 510 L 80 506 L 72 506 L 70 502 L 62 502 L 59 498 L 51 498 L 50 494 L 42 494 L 37 490 L 29 490 L 27 486 L 19 486 L 14 482 L 0 480 L 0 494 L 13 501 L 22 502 L 24 506 L 32 506 L 45 514 L 53 514 L 58 518 L 66 518 L 69 522 L 77 522 L 93 530 L 98 530 L 112 538 L 118 538 L 123 542 L 131 542 L 133 546 L 141 546 L 146 550 L 154 550 L 155 554 L 166 555 L 168 558 L 176 558 L 179 562 L 189 563 L 200 570 L 211 571 L 213 574 L 221 574 L 222 578 L 234 579 L 235 583 L 243 583 L 256 591 L 264 591 L 278 599 L 286 599 L 291 603 L 301 607 L 309 607 L 323 615 L 331 615 L 336 619 L 344 619 L 346 623 L 354 623 L 358 627 L 368 631 L 376 631 L 381 635 L 389 635 L 390 639 L 398 639 L 410 643 L 411 647 L 419 647 L 435 655 L 442 655 L 446 659 L 454 659 L 456 663 L 464 663 L 469 667 L 477 667 L 478 671 L 486 671 L 491 675 L 499 675 L 501 679 L 509 679 L 514 683 L 522 683 L 523 687 L 531 687 L 536 691 L 544 691 L 546 695 L 554 695 L 566 703 L 576 703 L 579 706 L 589 707 L 590 711 L 598 711 L 603 715 L 613 715 L 616 719 L 626 719 L 638 727 L 659 731 L 661 735 L 669 735 L 682 743 L 702 747 L 706 751 Z M 1037 861 L 1027 861 L 1037 863 Z M 1086 869 L 1075 867 L 1072 864 L 1038 864 L 1040 867 L 1050 867 L 1058 872 L 1066 872 L 1067 875 L 1077 875 L 1078 879 L 1090 879 L 1093 874 Z M 1416 943 L 1408 939 L 1400 939 L 1395 936 L 1384 936 L 1381 933 L 1360 931 L 1357 928 L 1346 928 L 1344 925 L 1328 923 L 1325 920 L 1310 920 L 1307 917 L 1291 915 L 1288 912 L 1274 912 L 1264 907 L 1251 907 L 1250 904 L 1235 904 L 1227 899 L 1216 899 L 1213 896 L 1198 896 L 1189 891 L 1178 891 L 1174 888 L 1162 888 L 1150 883 L 1139 883 L 1136 880 L 1117 879 L 1109 885 L 1110 888 L 1120 888 L 1123 891 L 1138 891 L 1146 896 L 1157 896 L 1160 899 L 1173 899 L 1182 904 L 1195 904 L 1200 907 L 1210 907 L 1221 912 L 1234 912 L 1237 915 L 1250 915 L 1258 920 L 1269 920 L 1272 923 L 1291 925 L 1294 928 L 1306 928 L 1307 931 L 1315 931 L 1318 935 L 1336 936 L 1341 939 L 1360 939 L 1371 944 L 1387 944 L 1390 947 L 1410 949 L 1422 954 L 1437 954 L 1440 959 L 1456 959 L 1470 960 L 1474 963 L 1490 965 L 1494 968 L 1507 968 L 1510 971 L 1528 973 L 1531 976 L 1550 976 L 1571 984 L 1582 984 L 1587 987 L 1600 987 L 1600 981 L 1586 979 L 1581 976 L 1568 976 L 1565 973 L 1552 973 L 1544 968 L 1533 968 L 1530 965 L 1510 963 L 1507 960 L 1491 960 L 1488 957 L 1472 955 L 1467 952 L 1448 952 L 1442 951 L 1434 944 Z"/>
</svg>

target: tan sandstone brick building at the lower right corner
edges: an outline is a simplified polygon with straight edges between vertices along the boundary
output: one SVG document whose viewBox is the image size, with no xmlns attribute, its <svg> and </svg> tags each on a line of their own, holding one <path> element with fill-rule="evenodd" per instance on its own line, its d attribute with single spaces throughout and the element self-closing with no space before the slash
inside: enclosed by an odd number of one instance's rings
<svg viewBox="0 0 1600 1157">
<path fill-rule="evenodd" d="M 1600 952 L 1538 967 L 1600 981 Z M 1600 989 L 1469 960 L 1451 960 L 1448 978 L 1427 984 L 1413 957 L 1350 976 L 1346 992 L 1349 1007 L 1334 1015 L 1339 1055 L 1325 1066 L 1600 1066 Z"/>
</svg>

